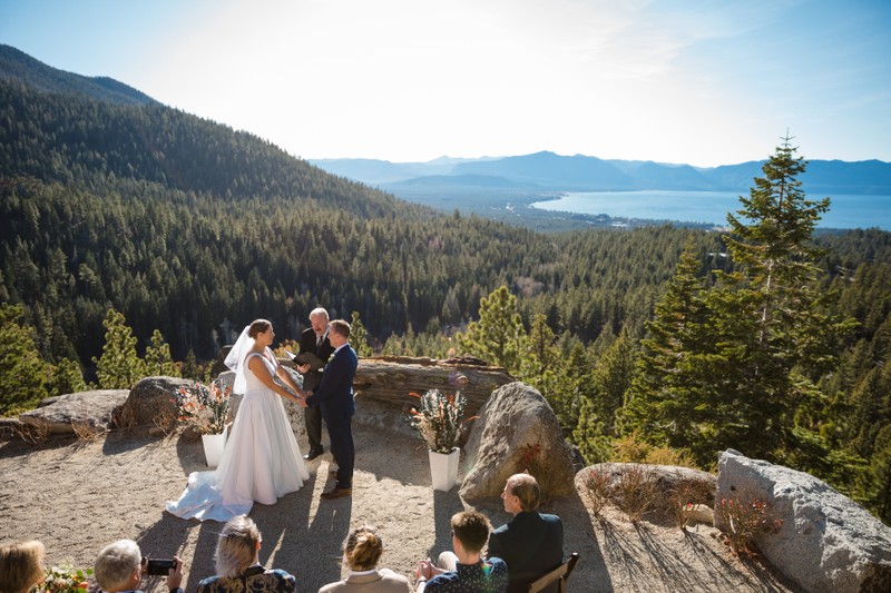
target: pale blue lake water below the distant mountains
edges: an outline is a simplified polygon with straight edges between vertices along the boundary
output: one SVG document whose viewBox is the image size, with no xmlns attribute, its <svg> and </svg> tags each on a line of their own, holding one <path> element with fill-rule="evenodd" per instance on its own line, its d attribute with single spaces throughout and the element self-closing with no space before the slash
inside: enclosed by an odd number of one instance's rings
<svg viewBox="0 0 891 593">
<path fill-rule="evenodd" d="M 742 207 L 736 191 L 572 191 L 556 200 L 537 201 L 532 208 L 614 218 L 676 220 L 727 225 L 727 213 Z M 748 192 L 742 194 L 748 197 Z M 807 195 L 819 200 L 824 196 Z M 891 196 L 830 196 L 830 209 L 819 226 L 891 230 Z"/>
</svg>

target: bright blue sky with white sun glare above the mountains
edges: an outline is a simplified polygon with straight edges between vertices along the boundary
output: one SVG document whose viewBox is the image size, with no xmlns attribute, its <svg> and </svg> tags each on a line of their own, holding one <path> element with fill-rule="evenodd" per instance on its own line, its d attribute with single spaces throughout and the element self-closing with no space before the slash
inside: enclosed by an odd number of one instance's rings
<svg viewBox="0 0 891 593">
<path fill-rule="evenodd" d="M 887 0 L 0 0 L 0 43 L 303 158 L 891 161 Z"/>
</svg>

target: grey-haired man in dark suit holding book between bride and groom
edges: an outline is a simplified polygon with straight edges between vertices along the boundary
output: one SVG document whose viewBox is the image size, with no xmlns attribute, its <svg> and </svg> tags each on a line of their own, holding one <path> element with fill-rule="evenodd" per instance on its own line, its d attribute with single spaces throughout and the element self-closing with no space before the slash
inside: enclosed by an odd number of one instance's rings
<svg viewBox="0 0 891 593">
<path fill-rule="evenodd" d="M 303 389 L 314 391 L 322 383 L 322 369 L 334 354 L 334 346 L 327 338 L 329 316 L 322 307 L 310 313 L 310 326 L 300 336 L 300 352 L 294 358 L 297 370 L 303 375 Z M 322 446 L 322 408 L 319 406 L 303 408 L 306 436 L 310 438 L 310 451 L 303 456 L 312 461 L 324 453 Z"/>
</svg>

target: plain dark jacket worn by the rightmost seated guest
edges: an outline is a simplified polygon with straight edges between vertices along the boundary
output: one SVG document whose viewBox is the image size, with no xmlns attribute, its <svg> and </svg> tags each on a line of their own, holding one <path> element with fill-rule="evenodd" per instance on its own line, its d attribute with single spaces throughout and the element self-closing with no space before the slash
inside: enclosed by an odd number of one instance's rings
<svg viewBox="0 0 891 593">
<path fill-rule="evenodd" d="M 564 561 L 560 517 L 527 511 L 517 513 L 510 523 L 489 535 L 491 556 L 508 565 L 508 593 L 526 593 L 529 583 Z M 557 591 L 556 585 L 554 591 Z"/>
</svg>

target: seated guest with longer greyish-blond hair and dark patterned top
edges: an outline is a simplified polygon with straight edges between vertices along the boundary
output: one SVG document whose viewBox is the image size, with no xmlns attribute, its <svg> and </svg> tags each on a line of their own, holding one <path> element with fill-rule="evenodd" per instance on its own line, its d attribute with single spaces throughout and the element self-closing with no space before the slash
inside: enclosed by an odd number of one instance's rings
<svg viewBox="0 0 891 593">
<path fill-rule="evenodd" d="M 216 576 L 198 583 L 198 593 L 249 591 L 293 593 L 297 581 L 285 571 L 266 570 L 260 563 L 260 530 L 246 515 L 232 517 L 216 542 Z"/>
</svg>

